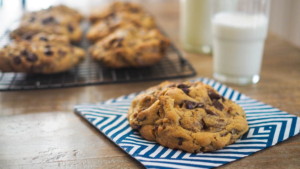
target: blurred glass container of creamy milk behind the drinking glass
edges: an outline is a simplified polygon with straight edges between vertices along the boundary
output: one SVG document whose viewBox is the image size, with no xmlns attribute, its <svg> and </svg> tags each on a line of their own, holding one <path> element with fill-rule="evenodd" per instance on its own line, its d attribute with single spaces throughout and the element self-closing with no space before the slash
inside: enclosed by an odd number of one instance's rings
<svg viewBox="0 0 300 169">
<path fill-rule="evenodd" d="M 185 50 L 211 53 L 210 0 L 180 0 L 180 41 Z"/>
</svg>

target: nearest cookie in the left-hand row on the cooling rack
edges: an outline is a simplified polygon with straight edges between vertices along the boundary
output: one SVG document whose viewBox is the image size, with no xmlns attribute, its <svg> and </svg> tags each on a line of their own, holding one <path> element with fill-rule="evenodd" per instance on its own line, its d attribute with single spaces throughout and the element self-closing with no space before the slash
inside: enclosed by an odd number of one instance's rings
<svg viewBox="0 0 300 169">
<path fill-rule="evenodd" d="M 66 35 L 39 33 L 0 49 L 0 70 L 52 74 L 66 71 L 85 58 L 85 51 L 72 46 Z"/>
</svg>

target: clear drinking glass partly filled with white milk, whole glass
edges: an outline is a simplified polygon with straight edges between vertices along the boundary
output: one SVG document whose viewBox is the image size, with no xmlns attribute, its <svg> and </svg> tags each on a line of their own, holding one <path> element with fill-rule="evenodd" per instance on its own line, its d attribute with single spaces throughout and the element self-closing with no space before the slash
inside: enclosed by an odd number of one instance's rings
<svg viewBox="0 0 300 169">
<path fill-rule="evenodd" d="M 212 0 L 213 77 L 236 85 L 259 81 L 270 0 Z"/>
</svg>

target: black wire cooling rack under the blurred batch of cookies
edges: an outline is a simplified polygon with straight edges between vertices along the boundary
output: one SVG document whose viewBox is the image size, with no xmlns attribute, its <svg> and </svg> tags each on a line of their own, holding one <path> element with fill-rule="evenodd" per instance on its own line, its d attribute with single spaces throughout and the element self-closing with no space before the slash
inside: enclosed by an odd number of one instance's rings
<svg viewBox="0 0 300 169">
<path fill-rule="evenodd" d="M 85 32 L 88 23 L 83 22 Z M 9 43 L 10 30 L 0 37 L 0 48 Z M 78 45 L 87 51 L 91 44 L 83 38 Z M 88 55 L 88 54 L 87 54 Z M 190 63 L 184 59 L 172 43 L 166 56 L 158 64 L 143 68 L 113 69 L 93 61 L 88 55 L 82 63 L 60 74 L 27 74 L 0 71 L 0 91 L 22 89 L 46 89 L 70 86 L 85 86 L 106 83 L 137 82 L 190 77 L 196 75 Z"/>
</svg>

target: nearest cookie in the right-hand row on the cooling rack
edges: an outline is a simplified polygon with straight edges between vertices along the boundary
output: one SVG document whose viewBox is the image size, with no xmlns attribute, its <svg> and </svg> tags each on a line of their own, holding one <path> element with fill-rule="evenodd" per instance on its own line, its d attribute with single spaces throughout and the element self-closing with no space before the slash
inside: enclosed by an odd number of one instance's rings
<svg viewBox="0 0 300 169">
<path fill-rule="evenodd" d="M 112 68 L 149 66 L 160 61 L 169 40 L 158 29 L 123 25 L 89 48 L 93 59 Z"/>
</svg>

